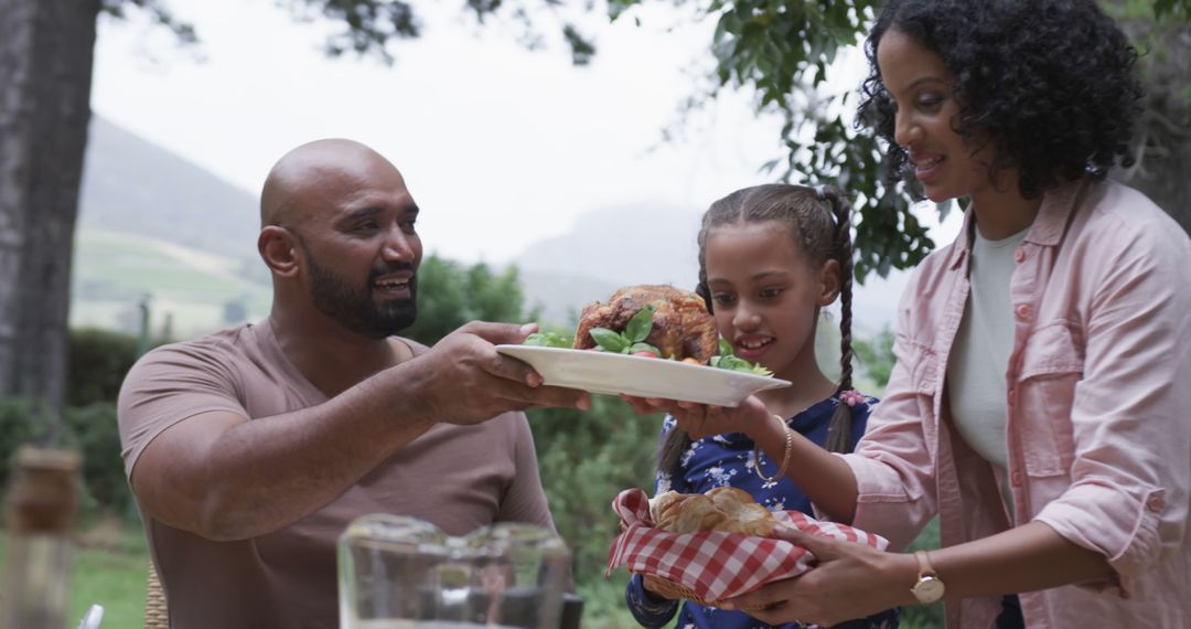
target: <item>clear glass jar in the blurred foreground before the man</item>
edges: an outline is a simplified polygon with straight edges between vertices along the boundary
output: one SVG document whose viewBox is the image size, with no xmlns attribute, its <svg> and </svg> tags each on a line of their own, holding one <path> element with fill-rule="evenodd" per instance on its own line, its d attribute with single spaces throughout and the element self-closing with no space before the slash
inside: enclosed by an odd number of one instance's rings
<svg viewBox="0 0 1191 629">
<path fill-rule="evenodd" d="M 554 533 L 498 523 L 453 537 L 417 518 L 370 515 L 339 537 L 342 629 L 557 629 L 570 555 Z"/>
</svg>

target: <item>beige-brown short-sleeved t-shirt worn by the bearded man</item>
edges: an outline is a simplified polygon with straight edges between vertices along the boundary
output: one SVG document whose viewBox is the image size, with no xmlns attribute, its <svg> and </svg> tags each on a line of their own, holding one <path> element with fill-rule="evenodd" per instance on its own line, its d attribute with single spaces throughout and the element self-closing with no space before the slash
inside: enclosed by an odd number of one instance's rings
<svg viewBox="0 0 1191 629">
<path fill-rule="evenodd" d="M 120 391 L 125 472 L 131 478 L 154 437 L 198 413 L 260 418 L 326 399 L 282 354 L 268 320 L 155 349 Z M 174 629 L 298 629 L 338 627 L 336 540 L 354 518 L 379 512 L 451 535 L 500 521 L 554 529 L 522 413 L 437 424 L 335 502 L 260 537 L 214 542 L 142 517 Z"/>
</svg>

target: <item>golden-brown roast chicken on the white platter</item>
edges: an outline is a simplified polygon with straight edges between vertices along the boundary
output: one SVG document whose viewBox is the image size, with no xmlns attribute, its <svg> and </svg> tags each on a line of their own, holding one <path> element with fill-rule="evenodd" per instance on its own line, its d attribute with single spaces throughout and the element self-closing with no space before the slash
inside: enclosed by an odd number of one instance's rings
<svg viewBox="0 0 1191 629">
<path fill-rule="evenodd" d="M 575 330 L 575 349 L 596 347 L 591 330 L 607 328 L 623 332 L 629 319 L 641 309 L 653 304 L 654 326 L 646 343 L 662 353 L 662 357 L 694 359 L 704 365 L 718 354 L 716 319 L 699 295 L 666 285 L 641 285 L 612 293 L 607 304 L 592 301 L 584 306 Z"/>
</svg>

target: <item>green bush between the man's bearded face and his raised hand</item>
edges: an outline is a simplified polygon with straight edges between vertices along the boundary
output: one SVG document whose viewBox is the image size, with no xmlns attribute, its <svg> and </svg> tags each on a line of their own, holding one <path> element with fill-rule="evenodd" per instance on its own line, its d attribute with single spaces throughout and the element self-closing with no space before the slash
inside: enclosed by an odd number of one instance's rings
<svg viewBox="0 0 1191 629">
<path fill-rule="evenodd" d="M 464 267 L 430 256 L 418 269 L 418 319 L 403 336 L 432 345 L 470 320 L 529 320 L 516 267 L 494 274 L 487 264 Z"/>
</svg>

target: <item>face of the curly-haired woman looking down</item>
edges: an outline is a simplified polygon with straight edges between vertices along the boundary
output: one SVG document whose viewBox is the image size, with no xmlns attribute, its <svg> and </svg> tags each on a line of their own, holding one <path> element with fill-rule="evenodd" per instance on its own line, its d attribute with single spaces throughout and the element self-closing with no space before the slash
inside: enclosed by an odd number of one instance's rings
<svg viewBox="0 0 1191 629">
<path fill-rule="evenodd" d="M 953 129 L 960 106 L 942 57 L 891 27 L 877 45 L 877 64 L 897 106 L 894 141 L 909 151 L 927 198 L 940 203 L 990 187 L 992 148 L 972 155 L 975 145 Z"/>
</svg>

